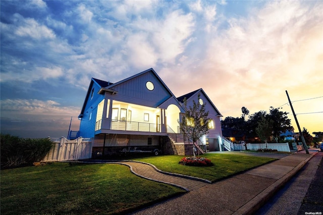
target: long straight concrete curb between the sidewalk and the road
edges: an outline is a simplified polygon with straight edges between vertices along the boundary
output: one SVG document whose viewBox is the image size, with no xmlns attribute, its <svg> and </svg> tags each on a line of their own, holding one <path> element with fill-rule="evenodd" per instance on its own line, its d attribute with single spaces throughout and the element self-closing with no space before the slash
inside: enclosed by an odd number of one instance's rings
<svg viewBox="0 0 323 215">
<path fill-rule="evenodd" d="M 317 152 L 316 152 L 317 153 Z M 253 214 L 256 212 L 264 203 L 266 203 L 279 189 L 281 189 L 296 173 L 303 168 L 303 166 L 310 160 L 316 153 L 310 154 L 309 157 L 300 162 L 294 169 L 289 173 L 284 175 L 282 178 L 278 179 L 271 186 L 267 187 L 261 193 L 256 195 L 249 202 L 240 207 L 235 211 L 234 215 L 242 214 Z"/>
</svg>

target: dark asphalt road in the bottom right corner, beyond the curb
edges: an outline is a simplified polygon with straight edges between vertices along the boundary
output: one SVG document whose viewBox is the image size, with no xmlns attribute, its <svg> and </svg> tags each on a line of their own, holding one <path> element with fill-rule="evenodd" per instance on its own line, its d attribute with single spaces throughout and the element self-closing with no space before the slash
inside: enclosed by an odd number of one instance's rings
<svg viewBox="0 0 323 215">
<path fill-rule="evenodd" d="M 323 214 L 323 152 L 306 165 L 255 214 Z"/>
</svg>

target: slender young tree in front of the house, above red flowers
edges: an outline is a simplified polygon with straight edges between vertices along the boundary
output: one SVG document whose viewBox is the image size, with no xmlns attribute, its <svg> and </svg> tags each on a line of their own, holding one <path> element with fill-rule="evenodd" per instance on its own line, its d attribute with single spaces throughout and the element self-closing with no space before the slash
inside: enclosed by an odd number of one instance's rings
<svg viewBox="0 0 323 215">
<path fill-rule="evenodd" d="M 200 94 L 197 97 L 197 100 L 199 99 Z M 205 102 L 202 105 L 194 100 L 192 102 L 193 106 L 187 107 L 187 100 L 184 98 L 185 114 L 182 116 L 182 121 L 179 124 L 184 136 L 191 139 L 193 143 L 196 143 L 201 136 L 208 133 L 210 118 L 208 118 L 209 112 L 205 111 Z"/>
</svg>

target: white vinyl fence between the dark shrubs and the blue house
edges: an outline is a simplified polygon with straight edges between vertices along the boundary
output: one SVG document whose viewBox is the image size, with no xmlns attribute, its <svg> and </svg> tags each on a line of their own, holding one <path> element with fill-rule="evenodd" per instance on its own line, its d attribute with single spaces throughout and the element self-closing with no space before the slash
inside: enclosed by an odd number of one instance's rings
<svg viewBox="0 0 323 215">
<path fill-rule="evenodd" d="M 52 149 L 41 162 L 56 162 L 62 160 L 78 160 L 91 158 L 92 138 L 79 137 L 68 140 L 65 137 L 49 138 L 53 142 Z"/>
</svg>

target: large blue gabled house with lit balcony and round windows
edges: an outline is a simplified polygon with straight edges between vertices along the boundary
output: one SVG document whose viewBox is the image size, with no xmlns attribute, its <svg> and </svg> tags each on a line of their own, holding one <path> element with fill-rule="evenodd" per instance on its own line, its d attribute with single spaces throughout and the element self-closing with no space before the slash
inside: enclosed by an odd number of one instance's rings
<svg viewBox="0 0 323 215">
<path fill-rule="evenodd" d="M 153 69 L 117 83 L 92 78 L 77 134 L 94 139 L 93 155 L 131 151 L 185 155 L 192 145 L 180 134 L 178 121 L 185 112 L 182 101 L 186 97 L 189 105 L 198 94 L 200 102 L 207 102 L 212 119 L 209 134 L 200 139 L 204 145 L 200 150 L 206 144 L 211 150 L 221 150 L 221 114 L 206 93 L 199 89 L 176 98 Z"/>
</svg>

